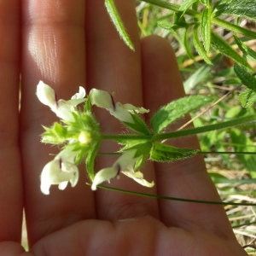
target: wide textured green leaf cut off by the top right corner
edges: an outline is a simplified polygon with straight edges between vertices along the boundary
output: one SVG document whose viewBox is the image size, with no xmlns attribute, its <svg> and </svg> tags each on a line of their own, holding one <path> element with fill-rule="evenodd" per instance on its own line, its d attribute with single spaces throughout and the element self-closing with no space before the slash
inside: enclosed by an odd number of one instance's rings
<svg viewBox="0 0 256 256">
<path fill-rule="evenodd" d="M 215 5 L 218 14 L 246 16 L 256 19 L 255 0 L 220 0 Z"/>
</svg>

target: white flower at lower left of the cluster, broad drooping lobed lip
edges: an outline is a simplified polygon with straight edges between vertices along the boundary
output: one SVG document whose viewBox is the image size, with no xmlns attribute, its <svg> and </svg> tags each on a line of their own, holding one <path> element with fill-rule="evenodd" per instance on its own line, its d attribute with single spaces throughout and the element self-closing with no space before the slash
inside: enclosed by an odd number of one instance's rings
<svg viewBox="0 0 256 256">
<path fill-rule="evenodd" d="M 79 168 L 74 164 L 75 156 L 72 148 L 65 148 L 55 159 L 50 161 L 41 173 L 41 191 L 45 195 L 49 195 L 51 185 L 58 184 L 58 188 L 66 189 L 67 183 L 71 183 L 74 187 L 79 181 Z"/>
</svg>

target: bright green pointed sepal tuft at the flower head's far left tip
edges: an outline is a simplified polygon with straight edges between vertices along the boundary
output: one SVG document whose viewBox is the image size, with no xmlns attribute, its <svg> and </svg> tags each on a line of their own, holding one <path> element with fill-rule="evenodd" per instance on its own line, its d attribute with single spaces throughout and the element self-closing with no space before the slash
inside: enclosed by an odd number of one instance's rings
<svg viewBox="0 0 256 256">
<path fill-rule="evenodd" d="M 67 140 L 67 128 L 60 123 L 55 122 L 51 127 L 44 127 L 44 133 L 41 135 L 42 143 L 62 144 Z"/>
</svg>

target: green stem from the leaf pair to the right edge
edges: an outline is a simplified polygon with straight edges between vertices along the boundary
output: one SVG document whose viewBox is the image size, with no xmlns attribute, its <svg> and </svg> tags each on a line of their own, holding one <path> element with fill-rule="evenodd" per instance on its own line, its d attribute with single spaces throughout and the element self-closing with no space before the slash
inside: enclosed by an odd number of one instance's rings
<svg viewBox="0 0 256 256">
<path fill-rule="evenodd" d="M 234 120 L 226 121 L 224 123 L 218 123 L 215 125 L 207 125 L 207 126 L 202 126 L 202 127 L 196 127 L 192 129 L 187 129 L 187 130 L 181 130 L 181 131 L 172 131 L 168 133 L 160 133 L 156 134 L 154 136 L 154 141 L 159 141 L 159 140 L 166 140 L 174 137 L 184 137 L 184 136 L 190 136 L 190 135 L 195 135 L 207 131 L 215 131 L 219 129 L 224 129 L 224 128 L 229 128 L 232 126 L 236 125 L 243 125 L 248 122 L 253 122 L 256 121 L 256 115 L 249 115 L 246 117 L 241 117 L 237 118 Z"/>
</svg>

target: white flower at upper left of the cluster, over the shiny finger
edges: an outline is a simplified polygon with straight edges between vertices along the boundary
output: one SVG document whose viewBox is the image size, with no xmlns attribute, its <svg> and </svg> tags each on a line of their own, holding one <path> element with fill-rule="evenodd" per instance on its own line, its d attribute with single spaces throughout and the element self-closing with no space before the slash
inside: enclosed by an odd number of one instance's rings
<svg viewBox="0 0 256 256">
<path fill-rule="evenodd" d="M 85 101 L 85 90 L 81 86 L 79 86 L 79 92 L 72 96 L 71 100 L 56 101 L 55 90 L 43 81 L 38 83 L 36 95 L 39 101 L 49 106 L 59 118 L 70 122 L 74 120 L 72 112 L 75 111 L 75 107 Z"/>
</svg>

